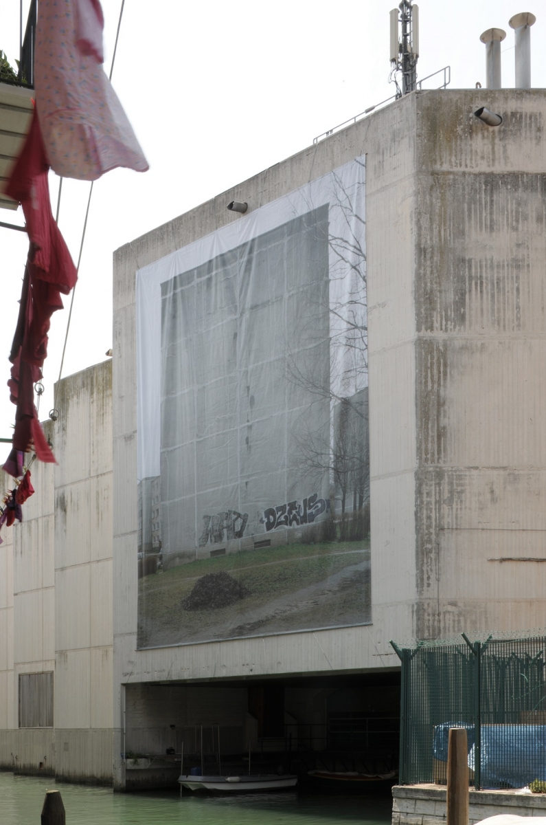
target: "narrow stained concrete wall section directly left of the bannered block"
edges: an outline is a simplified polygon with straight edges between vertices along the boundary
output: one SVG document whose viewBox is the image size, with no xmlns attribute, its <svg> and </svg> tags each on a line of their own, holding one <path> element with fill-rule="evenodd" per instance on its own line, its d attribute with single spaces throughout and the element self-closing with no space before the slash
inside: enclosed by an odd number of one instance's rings
<svg viewBox="0 0 546 825">
<path fill-rule="evenodd" d="M 111 361 L 61 385 L 54 434 L 56 775 L 111 782 Z"/>
</svg>

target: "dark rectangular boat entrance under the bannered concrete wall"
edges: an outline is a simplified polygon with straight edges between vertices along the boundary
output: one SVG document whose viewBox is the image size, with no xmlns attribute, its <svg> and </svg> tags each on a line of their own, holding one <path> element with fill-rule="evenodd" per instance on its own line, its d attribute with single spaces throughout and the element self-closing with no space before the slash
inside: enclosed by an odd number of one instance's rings
<svg viewBox="0 0 546 825">
<path fill-rule="evenodd" d="M 299 788 L 388 794 L 397 671 L 125 688 L 126 787 L 179 775 L 297 775 Z"/>
</svg>

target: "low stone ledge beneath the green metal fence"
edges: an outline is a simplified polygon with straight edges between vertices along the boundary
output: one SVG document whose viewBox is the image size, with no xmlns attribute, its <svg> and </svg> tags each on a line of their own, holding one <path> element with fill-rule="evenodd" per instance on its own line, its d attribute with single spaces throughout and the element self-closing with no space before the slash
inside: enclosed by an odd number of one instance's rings
<svg viewBox="0 0 546 825">
<path fill-rule="evenodd" d="M 520 817 L 546 816 L 546 794 L 470 789 L 469 825 L 494 817 L 497 813 L 512 813 Z M 393 825 L 445 825 L 445 787 L 394 785 Z"/>
</svg>

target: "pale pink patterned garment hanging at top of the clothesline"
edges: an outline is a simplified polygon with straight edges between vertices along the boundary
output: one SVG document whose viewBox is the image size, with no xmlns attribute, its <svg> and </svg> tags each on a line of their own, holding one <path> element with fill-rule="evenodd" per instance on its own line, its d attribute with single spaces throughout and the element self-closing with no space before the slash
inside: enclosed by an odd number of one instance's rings
<svg viewBox="0 0 546 825">
<path fill-rule="evenodd" d="M 85 181 L 115 167 L 148 169 L 97 62 L 102 54 L 101 43 L 97 45 L 101 19 L 98 0 L 40 0 L 38 5 L 35 92 L 45 152 L 58 175 Z"/>
</svg>

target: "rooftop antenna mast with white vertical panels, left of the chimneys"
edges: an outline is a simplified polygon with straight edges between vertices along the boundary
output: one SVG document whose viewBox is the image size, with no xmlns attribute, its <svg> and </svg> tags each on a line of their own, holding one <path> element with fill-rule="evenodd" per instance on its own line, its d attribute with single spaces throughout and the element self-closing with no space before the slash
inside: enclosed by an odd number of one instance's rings
<svg viewBox="0 0 546 825">
<path fill-rule="evenodd" d="M 391 73 L 402 73 L 402 89 L 397 82 L 396 94 L 397 97 L 402 97 L 417 88 L 419 7 L 412 0 L 402 0 L 398 8 L 393 8 L 390 20 Z"/>
</svg>

